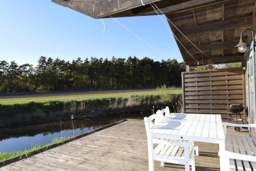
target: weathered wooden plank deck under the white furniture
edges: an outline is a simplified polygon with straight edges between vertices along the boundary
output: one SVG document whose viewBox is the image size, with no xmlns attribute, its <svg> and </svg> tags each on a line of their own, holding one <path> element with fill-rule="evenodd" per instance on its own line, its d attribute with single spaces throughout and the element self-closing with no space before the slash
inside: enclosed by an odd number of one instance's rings
<svg viewBox="0 0 256 171">
<path fill-rule="evenodd" d="M 247 134 L 246 131 L 229 132 Z M 196 170 L 219 170 L 218 145 L 196 143 Z M 148 170 L 147 140 L 143 120 L 128 120 L 108 129 L 82 137 L 24 160 L 1 167 L 0 170 Z M 155 170 L 184 170 L 184 166 L 166 164 Z"/>
</svg>

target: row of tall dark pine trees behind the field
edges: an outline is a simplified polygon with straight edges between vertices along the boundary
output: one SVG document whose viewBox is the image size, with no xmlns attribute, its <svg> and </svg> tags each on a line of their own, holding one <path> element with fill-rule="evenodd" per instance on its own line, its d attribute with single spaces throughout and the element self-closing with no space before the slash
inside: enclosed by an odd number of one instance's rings
<svg viewBox="0 0 256 171">
<path fill-rule="evenodd" d="M 181 86 L 183 62 L 137 57 L 65 61 L 41 56 L 37 66 L 0 60 L 0 92 L 110 90 Z"/>
</svg>

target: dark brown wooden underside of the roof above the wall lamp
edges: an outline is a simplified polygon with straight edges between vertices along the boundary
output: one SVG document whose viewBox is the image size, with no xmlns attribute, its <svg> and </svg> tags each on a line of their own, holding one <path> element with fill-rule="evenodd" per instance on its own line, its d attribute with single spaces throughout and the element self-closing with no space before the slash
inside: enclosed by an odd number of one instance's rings
<svg viewBox="0 0 256 171">
<path fill-rule="evenodd" d="M 211 5 L 166 13 L 166 17 L 181 30 L 193 44 L 204 52 L 212 64 L 241 62 L 242 53 L 236 46 L 242 30 L 252 28 L 255 0 L 222 1 Z M 177 45 L 186 65 L 207 65 L 209 58 L 193 46 L 170 22 L 170 28 L 179 41 Z M 247 37 L 244 33 L 244 38 Z M 198 62 L 197 62 L 198 61 Z"/>
</svg>

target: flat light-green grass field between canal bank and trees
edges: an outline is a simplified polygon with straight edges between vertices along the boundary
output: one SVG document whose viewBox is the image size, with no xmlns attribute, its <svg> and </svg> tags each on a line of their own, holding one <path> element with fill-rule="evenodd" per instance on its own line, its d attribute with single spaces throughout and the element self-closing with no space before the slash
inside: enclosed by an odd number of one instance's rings
<svg viewBox="0 0 256 171">
<path fill-rule="evenodd" d="M 136 95 L 160 95 L 163 91 L 143 91 L 143 92 L 122 92 L 122 93 L 102 93 L 86 95 L 66 95 L 66 96 L 46 96 L 46 97 L 24 97 L 0 99 L 0 104 L 23 104 L 28 102 L 47 102 L 47 101 L 70 101 L 70 100 L 90 100 L 101 98 L 127 98 Z M 166 90 L 164 93 L 181 94 L 182 90 Z"/>
</svg>

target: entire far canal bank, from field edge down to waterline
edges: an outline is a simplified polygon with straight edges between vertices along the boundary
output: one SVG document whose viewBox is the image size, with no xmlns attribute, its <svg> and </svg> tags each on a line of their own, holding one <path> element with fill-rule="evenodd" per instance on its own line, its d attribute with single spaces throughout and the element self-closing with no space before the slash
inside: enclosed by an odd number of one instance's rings
<svg viewBox="0 0 256 171">
<path fill-rule="evenodd" d="M 130 98 L 103 98 L 91 100 L 30 102 L 0 104 L 0 127 L 17 127 L 51 122 L 95 119 L 111 115 L 148 113 L 166 105 L 174 112 L 180 110 L 180 94 L 132 96 Z"/>
</svg>

